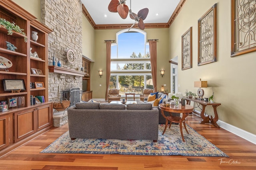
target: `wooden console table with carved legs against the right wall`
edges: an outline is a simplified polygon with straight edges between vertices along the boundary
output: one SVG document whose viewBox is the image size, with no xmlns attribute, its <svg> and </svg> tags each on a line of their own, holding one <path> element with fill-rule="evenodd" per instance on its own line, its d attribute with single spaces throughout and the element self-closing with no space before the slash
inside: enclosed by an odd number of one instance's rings
<svg viewBox="0 0 256 170">
<path fill-rule="evenodd" d="M 215 127 L 220 128 L 220 126 L 217 124 L 217 121 L 218 121 L 217 107 L 221 105 L 220 103 L 215 103 L 215 102 L 209 103 L 209 102 L 204 102 L 204 100 L 197 100 L 194 98 L 183 98 L 183 99 L 186 100 L 186 104 L 190 104 L 190 101 L 192 101 L 192 102 L 202 105 L 202 109 L 201 109 L 201 113 L 200 113 L 202 121 L 200 121 L 200 124 L 212 123 L 212 125 L 214 125 Z M 214 117 L 204 114 L 206 106 L 213 107 Z M 196 113 L 195 111 L 193 111 L 193 112 Z"/>
</svg>

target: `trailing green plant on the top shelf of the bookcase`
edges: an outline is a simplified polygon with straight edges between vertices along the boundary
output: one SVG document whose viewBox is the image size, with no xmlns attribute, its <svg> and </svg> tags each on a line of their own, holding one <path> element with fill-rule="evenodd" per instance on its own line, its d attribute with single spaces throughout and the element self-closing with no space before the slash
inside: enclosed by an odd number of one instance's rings
<svg viewBox="0 0 256 170">
<path fill-rule="evenodd" d="M 20 28 L 14 22 L 11 23 L 10 21 L 7 21 L 4 18 L 0 18 L 0 28 L 2 28 L 1 25 L 7 29 L 8 35 L 12 35 L 13 31 L 16 31 L 17 33 L 21 33 L 22 35 L 24 35 L 24 41 L 25 42 L 28 41 L 26 33 L 23 32 L 24 29 Z"/>
</svg>

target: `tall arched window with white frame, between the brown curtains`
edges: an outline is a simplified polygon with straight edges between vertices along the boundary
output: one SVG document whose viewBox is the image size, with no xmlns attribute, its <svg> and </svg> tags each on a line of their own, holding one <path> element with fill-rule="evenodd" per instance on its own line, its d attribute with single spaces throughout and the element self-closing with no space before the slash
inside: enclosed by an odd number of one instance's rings
<svg viewBox="0 0 256 170">
<path fill-rule="evenodd" d="M 142 94 L 144 88 L 152 88 L 149 44 L 146 32 L 140 29 L 124 29 L 116 33 L 116 43 L 111 45 L 110 87 L 120 89 L 120 94 Z"/>
</svg>

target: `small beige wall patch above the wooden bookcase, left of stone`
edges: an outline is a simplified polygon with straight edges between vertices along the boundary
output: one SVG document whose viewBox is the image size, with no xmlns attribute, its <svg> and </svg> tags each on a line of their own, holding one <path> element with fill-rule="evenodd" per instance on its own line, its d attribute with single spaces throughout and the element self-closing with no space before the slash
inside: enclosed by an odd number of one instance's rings
<svg viewBox="0 0 256 170">
<path fill-rule="evenodd" d="M 12 0 L 41 21 L 41 0 Z"/>
</svg>

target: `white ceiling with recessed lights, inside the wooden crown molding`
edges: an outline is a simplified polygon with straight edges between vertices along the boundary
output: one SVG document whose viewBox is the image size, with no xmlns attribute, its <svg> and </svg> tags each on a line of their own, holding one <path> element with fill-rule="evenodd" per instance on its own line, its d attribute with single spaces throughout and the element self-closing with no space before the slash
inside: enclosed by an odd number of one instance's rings
<svg viewBox="0 0 256 170">
<path fill-rule="evenodd" d="M 118 13 L 109 12 L 108 4 L 110 1 L 81 0 L 96 25 L 134 23 L 129 15 L 126 19 L 122 19 Z M 130 6 L 130 2 L 132 2 L 132 6 Z M 143 8 L 148 8 L 148 16 L 144 23 L 167 23 L 179 2 L 180 0 L 126 0 L 126 5 L 135 14 Z"/>
</svg>

